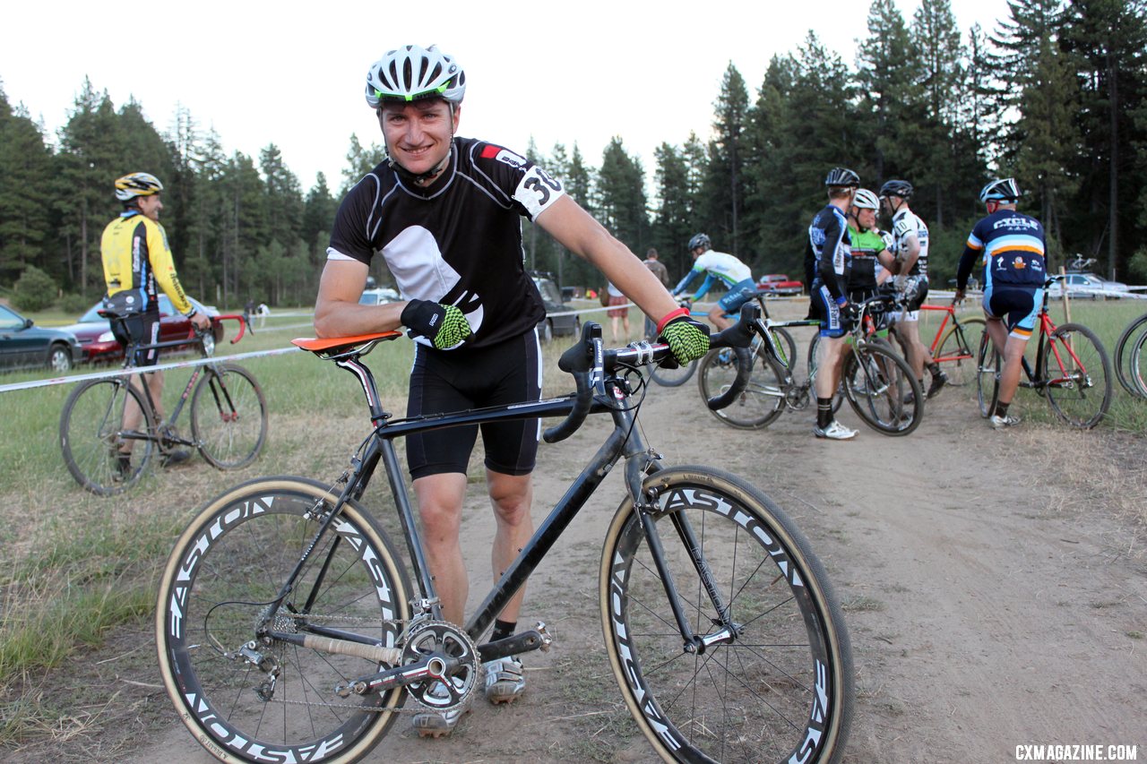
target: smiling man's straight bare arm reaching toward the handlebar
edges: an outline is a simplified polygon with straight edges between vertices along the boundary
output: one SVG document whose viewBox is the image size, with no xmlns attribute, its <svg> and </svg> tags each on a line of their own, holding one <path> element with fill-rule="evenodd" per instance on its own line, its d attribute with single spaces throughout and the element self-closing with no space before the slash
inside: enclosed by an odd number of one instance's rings
<svg viewBox="0 0 1147 764">
<path fill-rule="evenodd" d="M 677 310 L 669 291 L 638 256 L 569 196 L 539 215 L 538 225 L 568 250 L 593 263 L 654 321 Z"/>
</svg>

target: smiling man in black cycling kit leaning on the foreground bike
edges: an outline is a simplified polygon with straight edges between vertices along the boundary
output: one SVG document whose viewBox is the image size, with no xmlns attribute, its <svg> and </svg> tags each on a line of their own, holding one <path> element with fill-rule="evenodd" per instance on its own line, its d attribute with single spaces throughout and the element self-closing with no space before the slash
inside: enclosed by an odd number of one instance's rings
<svg viewBox="0 0 1147 764">
<path fill-rule="evenodd" d="M 535 220 L 593 263 L 657 322 L 678 362 L 702 357 L 708 329 L 690 319 L 653 273 L 541 167 L 497 143 L 455 138 L 466 75 L 431 46 L 405 46 L 375 62 L 366 83 L 387 159 L 343 200 L 319 284 L 319 336 L 406 327 L 416 341 L 407 415 L 537 400 L 541 391 L 535 327 L 545 307 L 524 270 L 521 218 Z M 368 264 L 381 252 L 403 301 L 359 305 Z M 531 471 L 538 420 L 482 426 L 486 484 L 497 531 L 496 578 L 530 538 Z M 478 428 L 411 436 L 414 478 L 430 571 L 444 617 L 460 624 L 468 582 L 459 544 L 466 469 Z M 494 623 L 514 632 L 522 593 Z M 509 702 L 525 687 L 515 658 L 486 666 L 486 697 Z M 462 710 L 419 714 L 423 734 L 453 730 Z"/>
</svg>

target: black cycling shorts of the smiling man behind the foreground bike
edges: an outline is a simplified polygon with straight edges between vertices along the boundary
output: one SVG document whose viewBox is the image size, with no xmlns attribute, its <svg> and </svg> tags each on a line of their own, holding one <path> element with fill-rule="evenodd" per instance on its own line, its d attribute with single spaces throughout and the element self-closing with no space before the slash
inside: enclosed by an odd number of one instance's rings
<svg viewBox="0 0 1147 764">
<path fill-rule="evenodd" d="M 436 351 L 416 345 L 411 369 L 407 416 L 498 406 L 541 399 L 541 349 L 530 332 L 490 348 Z M 477 424 L 406 436 L 412 477 L 466 474 L 477 441 Z M 481 426 L 485 466 L 504 475 L 528 475 L 538 455 L 540 419 Z"/>
</svg>

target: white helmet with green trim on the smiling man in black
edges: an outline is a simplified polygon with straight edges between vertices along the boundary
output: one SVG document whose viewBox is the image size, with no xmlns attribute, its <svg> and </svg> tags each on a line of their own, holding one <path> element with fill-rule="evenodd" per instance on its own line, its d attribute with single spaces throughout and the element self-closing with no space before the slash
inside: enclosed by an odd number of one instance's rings
<svg viewBox="0 0 1147 764">
<path fill-rule="evenodd" d="M 421 99 L 443 99 L 457 106 L 465 94 L 462 68 L 435 45 L 388 50 L 366 73 L 366 102 L 372 109 L 384 101 L 407 103 Z"/>
</svg>

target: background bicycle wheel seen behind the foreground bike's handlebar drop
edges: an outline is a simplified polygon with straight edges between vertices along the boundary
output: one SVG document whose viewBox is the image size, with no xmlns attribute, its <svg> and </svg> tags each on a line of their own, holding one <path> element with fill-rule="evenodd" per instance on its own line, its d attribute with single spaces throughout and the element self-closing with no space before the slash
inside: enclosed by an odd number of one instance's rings
<svg viewBox="0 0 1147 764">
<path fill-rule="evenodd" d="M 732 349 L 710 350 L 701 359 L 697 383 L 704 400 L 723 395 L 733 385 L 738 374 L 736 353 Z M 785 384 L 788 372 L 783 366 L 757 348 L 752 354 L 749 381 L 733 403 L 717 411 L 713 416 L 742 430 L 768 427 L 785 411 Z"/>
</svg>

